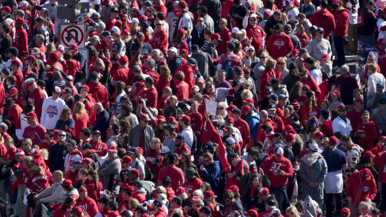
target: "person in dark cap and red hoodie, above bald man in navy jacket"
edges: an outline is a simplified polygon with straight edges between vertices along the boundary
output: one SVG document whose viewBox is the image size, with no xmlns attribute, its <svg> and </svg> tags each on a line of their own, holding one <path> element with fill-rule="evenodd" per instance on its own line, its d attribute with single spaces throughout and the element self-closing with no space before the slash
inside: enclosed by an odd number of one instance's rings
<svg viewBox="0 0 386 217">
<path fill-rule="evenodd" d="M 90 81 L 87 83 L 87 86 L 90 88 L 88 93 L 95 99 L 95 102 L 100 102 L 103 108 L 108 108 L 110 105 L 108 92 L 106 87 L 99 82 L 99 74 L 96 71 L 91 72 Z"/>
</svg>

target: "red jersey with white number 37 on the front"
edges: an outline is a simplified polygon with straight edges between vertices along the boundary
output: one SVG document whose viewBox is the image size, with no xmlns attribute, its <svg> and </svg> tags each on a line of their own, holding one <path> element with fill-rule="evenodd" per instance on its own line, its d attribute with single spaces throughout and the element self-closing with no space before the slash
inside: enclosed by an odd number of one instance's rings
<svg viewBox="0 0 386 217">
<path fill-rule="evenodd" d="M 277 161 L 274 155 L 264 159 L 260 167 L 268 176 L 269 180 L 271 181 L 271 185 L 274 188 L 279 188 L 283 185 L 286 185 L 288 178 L 291 178 L 294 173 L 291 161 L 284 157 Z M 273 175 L 274 170 L 284 171 L 284 176 Z"/>
</svg>

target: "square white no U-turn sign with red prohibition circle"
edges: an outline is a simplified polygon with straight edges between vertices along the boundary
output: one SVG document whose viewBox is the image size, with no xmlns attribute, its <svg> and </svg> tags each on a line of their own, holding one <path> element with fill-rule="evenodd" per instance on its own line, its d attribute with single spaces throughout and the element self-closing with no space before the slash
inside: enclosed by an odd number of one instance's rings
<svg viewBox="0 0 386 217">
<path fill-rule="evenodd" d="M 60 43 L 64 48 L 69 48 L 73 43 L 79 48 L 85 47 L 85 24 L 61 24 L 60 25 Z"/>
</svg>

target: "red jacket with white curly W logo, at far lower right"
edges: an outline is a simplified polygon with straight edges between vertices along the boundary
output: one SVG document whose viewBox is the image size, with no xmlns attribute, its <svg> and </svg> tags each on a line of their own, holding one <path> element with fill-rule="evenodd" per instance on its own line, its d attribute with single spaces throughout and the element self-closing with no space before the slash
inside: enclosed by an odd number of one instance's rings
<svg viewBox="0 0 386 217">
<path fill-rule="evenodd" d="M 366 180 L 366 177 L 370 179 Z M 374 199 L 377 194 L 377 185 L 369 169 L 364 168 L 352 173 L 346 181 L 346 194 L 347 197 L 352 198 L 354 206 L 357 206 L 362 201 L 366 201 L 367 198 L 371 201 Z"/>
</svg>

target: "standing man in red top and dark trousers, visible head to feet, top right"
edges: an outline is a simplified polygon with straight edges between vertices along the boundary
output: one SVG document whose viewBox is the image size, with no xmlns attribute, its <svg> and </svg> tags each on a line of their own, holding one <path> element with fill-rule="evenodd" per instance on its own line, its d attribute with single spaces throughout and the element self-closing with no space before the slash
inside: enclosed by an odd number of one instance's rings
<svg viewBox="0 0 386 217">
<path fill-rule="evenodd" d="M 344 44 L 347 37 L 347 28 L 349 23 L 349 10 L 339 5 L 332 3 L 331 9 L 334 12 L 335 29 L 334 29 L 334 44 L 337 51 L 337 66 L 341 66 L 345 61 Z"/>
</svg>

